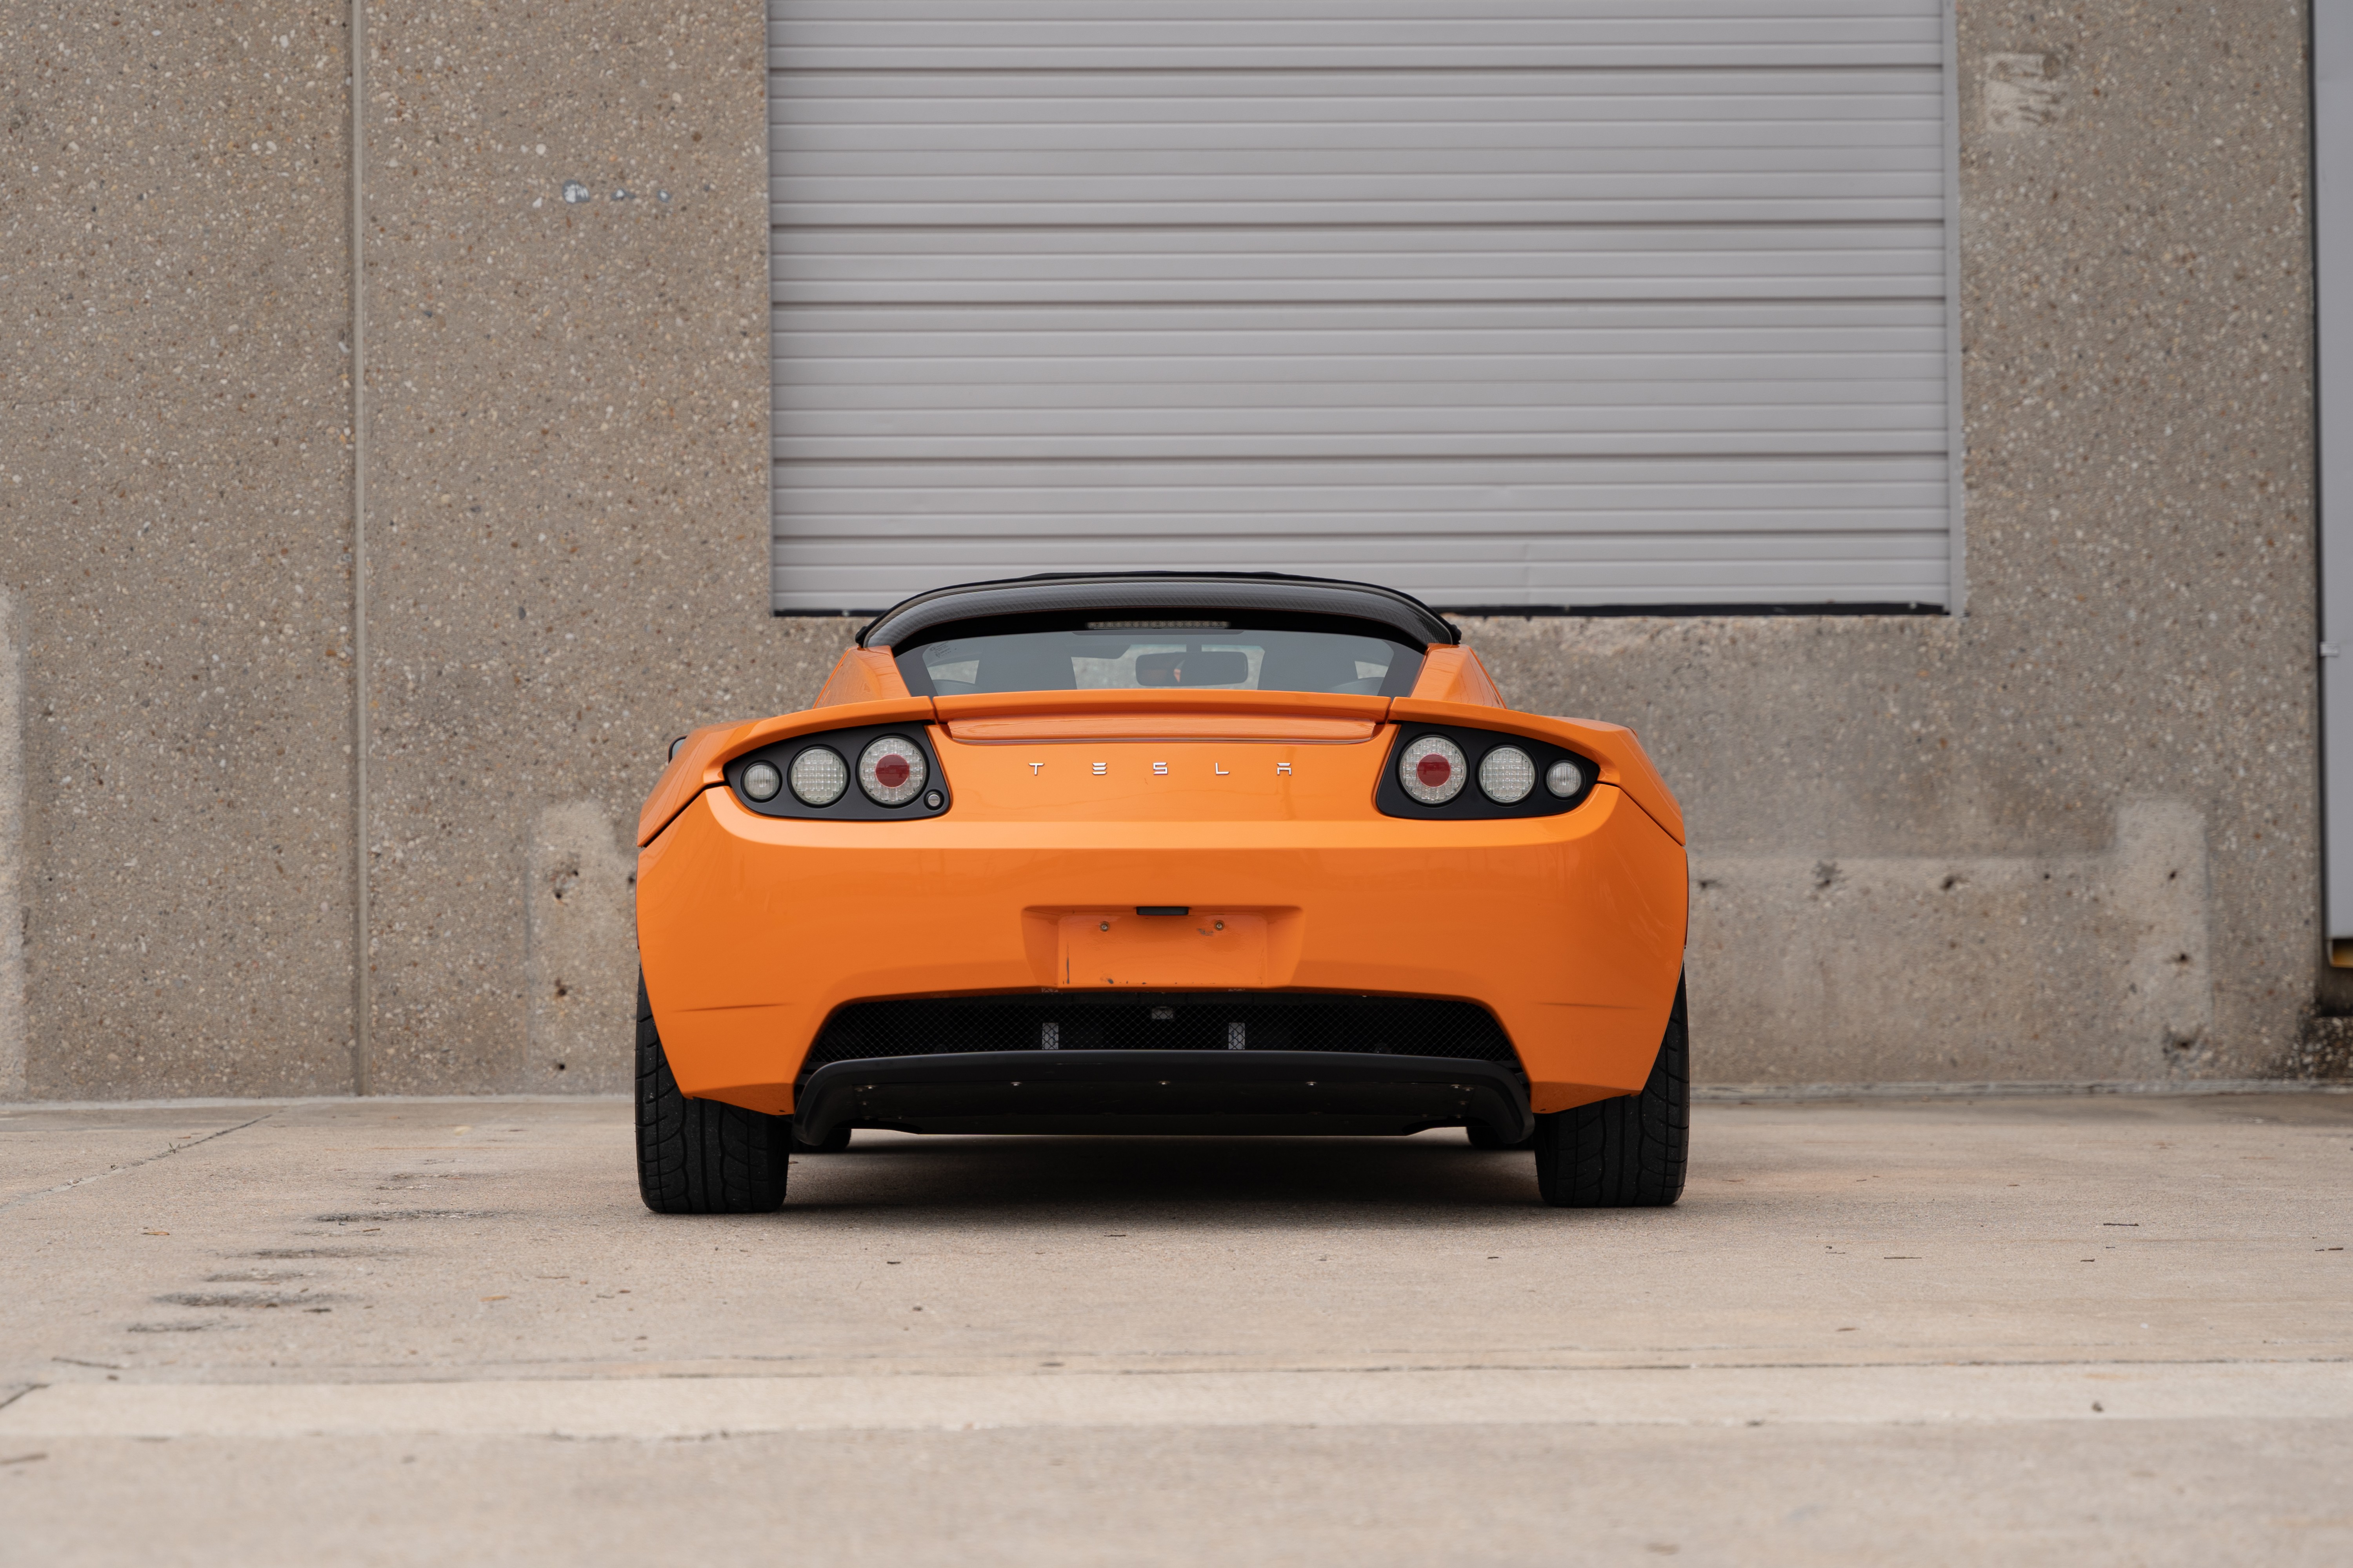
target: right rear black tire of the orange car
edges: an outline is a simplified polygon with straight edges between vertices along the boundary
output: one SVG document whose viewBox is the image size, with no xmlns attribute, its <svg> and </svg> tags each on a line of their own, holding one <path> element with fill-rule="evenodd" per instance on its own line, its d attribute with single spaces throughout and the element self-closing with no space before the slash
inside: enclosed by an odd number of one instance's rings
<svg viewBox="0 0 2353 1568">
<path fill-rule="evenodd" d="M 1642 1093 L 1537 1117 L 1537 1190 L 1553 1208 L 1666 1208 L 1692 1152 L 1692 1025 L 1675 1011 Z"/>
</svg>

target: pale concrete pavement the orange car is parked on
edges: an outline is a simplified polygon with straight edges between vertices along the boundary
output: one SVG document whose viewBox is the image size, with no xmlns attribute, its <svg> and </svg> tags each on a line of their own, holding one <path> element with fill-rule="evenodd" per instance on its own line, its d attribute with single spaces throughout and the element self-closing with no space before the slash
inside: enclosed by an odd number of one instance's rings
<svg viewBox="0 0 2353 1568">
<path fill-rule="evenodd" d="M 2353 1095 L 918 1140 L 640 1208 L 612 1100 L 0 1107 L 0 1561 L 2344 1563 Z"/>
</svg>

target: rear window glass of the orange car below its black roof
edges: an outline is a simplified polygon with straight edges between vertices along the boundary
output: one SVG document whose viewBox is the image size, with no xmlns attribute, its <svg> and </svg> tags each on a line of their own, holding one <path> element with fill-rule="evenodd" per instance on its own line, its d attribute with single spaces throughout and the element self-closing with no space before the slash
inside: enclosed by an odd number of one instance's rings
<svg viewBox="0 0 2353 1568">
<path fill-rule="evenodd" d="M 1221 621 L 1096 621 L 1080 630 L 991 632 L 896 654 L 915 696 L 972 691 L 1341 691 L 1405 696 L 1421 649 L 1322 630 Z"/>
</svg>

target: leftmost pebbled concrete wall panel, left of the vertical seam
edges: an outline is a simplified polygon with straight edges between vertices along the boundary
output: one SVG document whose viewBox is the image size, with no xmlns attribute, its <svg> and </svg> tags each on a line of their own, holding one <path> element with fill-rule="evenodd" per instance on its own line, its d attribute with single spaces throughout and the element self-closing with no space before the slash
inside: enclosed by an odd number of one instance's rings
<svg viewBox="0 0 2353 1568">
<path fill-rule="evenodd" d="M 341 14 L 0 7 L 0 1041 L 38 1095 L 351 1084 Z"/>
</svg>

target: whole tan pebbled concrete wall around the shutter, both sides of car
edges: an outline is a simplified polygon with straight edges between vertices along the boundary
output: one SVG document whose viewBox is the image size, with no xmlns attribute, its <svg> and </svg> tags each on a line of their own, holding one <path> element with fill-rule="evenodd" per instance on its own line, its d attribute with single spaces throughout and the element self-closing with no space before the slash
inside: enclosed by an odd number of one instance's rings
<svg viewBox="0 0 2353 1568">
<path fill-rule="evenodd" d="M 344 1088 L 344 7 L 61 9 L 0 0 L 0 1074 Z M 1682 795 L 1704 1077 L 2318 1060 L 2304 26 L 1962 5 L 1965 618 L 1471 623 Z M 762 45 L 372 12 L 379 1088 L 621 1086 L 666 741 L 847 639 L 765 614 Z"/>
</svg>

